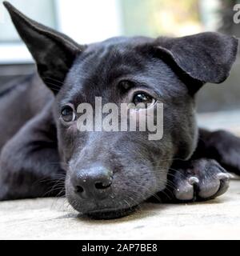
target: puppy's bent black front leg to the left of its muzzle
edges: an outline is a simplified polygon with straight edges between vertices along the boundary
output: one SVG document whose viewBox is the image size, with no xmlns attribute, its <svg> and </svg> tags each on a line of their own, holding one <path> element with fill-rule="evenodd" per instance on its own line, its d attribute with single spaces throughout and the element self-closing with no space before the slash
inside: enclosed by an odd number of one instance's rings
<svg viewBox="0 0 240 256">
<path fill-rule="evenodd" d="M 55 127 L 50 106 L 3 147 L 0 155 L 0 200 L 38 198 L 64 193 Z"/>
</svg>

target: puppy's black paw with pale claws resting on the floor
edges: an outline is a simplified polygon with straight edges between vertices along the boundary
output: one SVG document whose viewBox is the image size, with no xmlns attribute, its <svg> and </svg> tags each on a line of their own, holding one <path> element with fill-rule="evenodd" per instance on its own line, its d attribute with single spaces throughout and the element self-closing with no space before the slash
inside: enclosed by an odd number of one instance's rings
<svg viewBox="0 0 240 256">
<path fill-rule="evenodd" d="M 229 187 L 230 174 L 218 162 L 200 159 L 175 170 L 172 182 L 172 192 L 176 200 L 204 201 L 226 192 Z"/>
</svg>

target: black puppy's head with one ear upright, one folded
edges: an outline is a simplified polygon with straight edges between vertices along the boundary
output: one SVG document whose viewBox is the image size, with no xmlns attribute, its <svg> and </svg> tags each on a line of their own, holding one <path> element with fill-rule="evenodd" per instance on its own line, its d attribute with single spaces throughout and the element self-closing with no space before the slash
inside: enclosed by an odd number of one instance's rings
<svg viewBox="0 0 240 256">
<path fill-rule="evenodd" d="M 53 118 L 70 204 L 95 218 L 114 218 L 163 190 L 174 158 L 186 160 L 196 147 L 194 96 L 204 83 L 228 77 L 238 40 L 202 33 L 184 38 L 111 38 L 80 46 L 5 5 L 38 73 L 56 97 Z M 130 131 L 128 125 L 121 130 L 122 119 L 107 119 L 109 110 L 102 111 L 102 118 L 110 130 L 97 130 L 96 98 L 102 105 L 110 103 L 111 111 L 120 110 L 122 103 L 142 103 L 144 107 L 132 107 L 127 118 L 136 123 L 148 116 L 144 110 L 158 110 L 161 102 L 163 136 L 151 140 L 148 130 Z M 82 103 L 91 110 L 81 112 Z M 152 113 L 158 122 L 158 111 Z M 92 117 L 86 122 L 93 121 L 95 129 L 81 130 L 86 128 L 84 122 L 79 126 L 82 115 Z"/>
</svg>

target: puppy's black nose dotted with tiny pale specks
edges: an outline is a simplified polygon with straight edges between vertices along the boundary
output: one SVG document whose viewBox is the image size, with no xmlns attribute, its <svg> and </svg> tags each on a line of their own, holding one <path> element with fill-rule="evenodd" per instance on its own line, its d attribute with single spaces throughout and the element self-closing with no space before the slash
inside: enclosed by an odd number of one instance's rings
<svg viewBox="0 0 240 256">
<path fill-rule="evenodd" d="M 110 194 L 112 180 L 113 172 L 103 166 L 79 170 L 71 178 L 75 193 L 85 199 L 106 198 Z"/>
</svg>

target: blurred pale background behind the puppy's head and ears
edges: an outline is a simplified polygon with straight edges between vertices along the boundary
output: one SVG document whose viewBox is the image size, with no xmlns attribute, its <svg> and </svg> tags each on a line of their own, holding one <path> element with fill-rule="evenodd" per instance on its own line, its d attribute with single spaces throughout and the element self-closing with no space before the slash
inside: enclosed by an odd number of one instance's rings
<svg viewBox="0 0 240 256">
<path fill-rule="evenodd" d="M 18 38 L 9 15 L 0 7 L 0 83 L 30 74 L 33 60 Z M 240 38 L 234 14 L 238 0 L 10 0 L 14 6 L 80 43 L 118 35 L 184 36 L 220 31 Z M 235 6 L 235 7 L 234 7 Z M 234 9 L 235 8 L 235 9 Z M 240 18 L 240 14 L 238 15 Z M 221 114 L 222 126 L 240 121 L 240 58 L 222 85 L 207 85 L 198 94 L 198 111 L 213 122 Z M 227 111 L 227 112 L 222 112 Z M 214 117 L 218 115 L 214 115 Z M 222 118 L 222 117 L 225 118 Z M 214 126 L 215 121 L 213 122 Z M 208 124 L 209 126 L 209 124 Z"/>
</svg>

